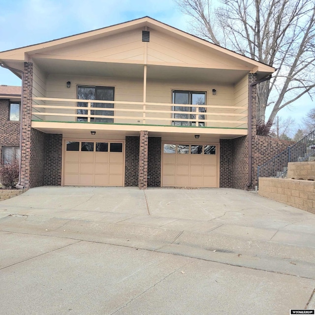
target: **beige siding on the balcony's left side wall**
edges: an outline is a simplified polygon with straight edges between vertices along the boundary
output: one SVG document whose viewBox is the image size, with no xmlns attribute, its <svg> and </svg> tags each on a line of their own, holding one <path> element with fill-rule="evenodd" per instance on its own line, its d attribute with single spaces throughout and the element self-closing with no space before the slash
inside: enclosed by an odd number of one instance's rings
<svg viewBox="0 0 315 315">
<path fill-rule="evenodd" d="M 33 63 L 33 82 L 32 82 L 32 97 L 46 97 L 46 73 L 42 71 L 36 63 Z M 34 100 L 34 105 L 45 105 L 44 101 Z M 36 108 L 33 112 L 44 112 L 42 108 Z M 32 120 L 44 120 L 42 115 L 32 115 Z"/>
</svg>

